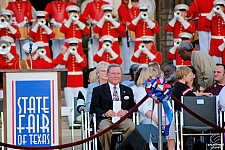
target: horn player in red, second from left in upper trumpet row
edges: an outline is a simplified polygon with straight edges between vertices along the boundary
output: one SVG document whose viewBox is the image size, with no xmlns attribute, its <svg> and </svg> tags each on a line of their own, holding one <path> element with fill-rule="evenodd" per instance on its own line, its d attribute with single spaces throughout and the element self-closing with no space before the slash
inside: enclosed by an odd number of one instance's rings
<svg viewBox="0 0 225 150">
<path fill-rule="evenodd" d="M 45 11 L 36 11 L 36 22 L 33 27 L 31 27 L 29 36 L 33 38 L 34 42 L 44 42 L 46 56 L 51 58 L 50 48 L 49 48 L 49 39 L 55 37 L 55 33 L 46 25 Z"/>
</svg>

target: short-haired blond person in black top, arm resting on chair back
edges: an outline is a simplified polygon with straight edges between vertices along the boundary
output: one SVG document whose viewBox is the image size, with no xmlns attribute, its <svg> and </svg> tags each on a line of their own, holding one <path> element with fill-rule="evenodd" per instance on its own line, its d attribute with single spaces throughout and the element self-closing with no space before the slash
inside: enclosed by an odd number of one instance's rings
<svg viewBox="0 0 225 150">
<path fill-rule="evenodd" d="M 176 70 L 176 76 L 178 82 L 175 83 L 172 94 L 179 101 L 181 101 L 181 96 L 211 96 L 211 93 L 198 93 L 193 92 L 192 89 L 187 85 L 193 80 L 192 70 L 187 66 L 178 67 Z M 180 111 L 180 106 L 175 102 L 174 109 Z"/>
</svg>

